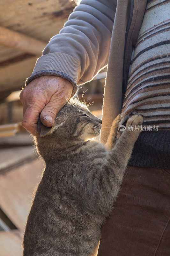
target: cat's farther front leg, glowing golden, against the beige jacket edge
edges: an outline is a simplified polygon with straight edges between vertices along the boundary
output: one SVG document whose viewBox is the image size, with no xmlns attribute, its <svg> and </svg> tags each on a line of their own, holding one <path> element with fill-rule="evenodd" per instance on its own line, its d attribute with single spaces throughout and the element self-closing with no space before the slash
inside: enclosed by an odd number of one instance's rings
<svg viewBox="0 0 170 256">
<path fill-rule="evenodd" d="M 121 120 L 121 115 L 118 115 L 115 120 L 113 121 L 112 127 L 110 129 L 110 134 L 107 138 L 107 142 L 105 147 L 107 149 L 112 149 L 116 143 L 116 137 L 117 137 L 117 132 L 118 132 L 118 127 L 119 127 L 119 122 Z"/>
</svg>

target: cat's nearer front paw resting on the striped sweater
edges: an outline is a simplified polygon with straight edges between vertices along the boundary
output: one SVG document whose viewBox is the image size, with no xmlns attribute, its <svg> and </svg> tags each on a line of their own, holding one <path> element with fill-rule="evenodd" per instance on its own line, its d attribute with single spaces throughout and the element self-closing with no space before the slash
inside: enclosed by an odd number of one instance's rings
<svg viewBox="0 0 170 256">
<path fill-rule="evenodd" d="M 143 124 L 143 116 L 131 116 L 126 124 L 126 131 L 127 132 L 141 132 L 142 129 L 139 128 Z"/>
</svg>

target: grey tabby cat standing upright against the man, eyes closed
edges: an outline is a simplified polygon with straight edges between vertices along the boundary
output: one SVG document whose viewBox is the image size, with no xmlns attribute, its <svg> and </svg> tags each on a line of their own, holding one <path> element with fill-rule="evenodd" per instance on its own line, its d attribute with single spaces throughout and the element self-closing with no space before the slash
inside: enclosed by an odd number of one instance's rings
<svg viewBox="0 0 170 256">
<path fill-rule="evenodd" d="M 94 255 L 140 133 L 127 127 L 143 122 L 130 117 L 116 141 L 120 117 L 105 146 L 91 139 L 101 120 L 76 99 L 59 111 L 52 128 L 39 120 L 35 142 L 45 170 L 26 224 L 24 256 Z"/>
</svg>

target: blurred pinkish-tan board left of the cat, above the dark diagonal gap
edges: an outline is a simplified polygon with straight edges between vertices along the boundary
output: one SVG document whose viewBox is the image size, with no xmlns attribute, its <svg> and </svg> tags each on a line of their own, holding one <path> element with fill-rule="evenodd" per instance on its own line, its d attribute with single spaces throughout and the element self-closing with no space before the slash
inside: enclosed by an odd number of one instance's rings
<svg viewBox="0 0 170 256">
<path fill-rule="evenodd" d="M 0 208 L 20 230 L 25 228 L 33 192 L 43 168 L 42 160 L 36 159 L 0 174 Z"/>
</svg>

